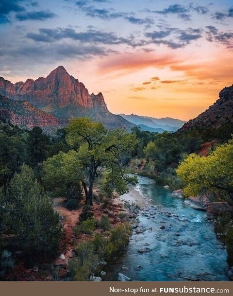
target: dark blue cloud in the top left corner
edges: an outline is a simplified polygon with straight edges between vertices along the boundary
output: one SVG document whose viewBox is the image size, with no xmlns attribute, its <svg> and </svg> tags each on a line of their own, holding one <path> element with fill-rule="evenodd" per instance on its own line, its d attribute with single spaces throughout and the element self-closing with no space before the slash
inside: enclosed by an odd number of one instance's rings
<svg viewBox="0 0 233 296">
<path fill-rule="evenodd" d="M 0 1 L 0 23 L 11 22 L 11 12 L 22 12 L 25 8 L 21 5 L 23 0 L 1 0 Z"/>
</svg>

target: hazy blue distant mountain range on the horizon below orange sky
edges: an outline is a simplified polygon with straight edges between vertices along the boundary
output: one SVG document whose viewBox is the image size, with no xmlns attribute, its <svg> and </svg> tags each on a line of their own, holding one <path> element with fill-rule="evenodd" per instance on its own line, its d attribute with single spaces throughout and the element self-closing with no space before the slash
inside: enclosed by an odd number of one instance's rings
<svg viewBox="0 0 233 296">
<path fill-rule="evenodd" d="M 159 132 L 164 131 L 175 132 L 183 126 L 185 121 L 174 118 L 153 118 L 148 116 L 139 116 L 136 114 L 119 114 L 124 119 L 138 125 L 142 130 L 149 132 Z"/>
</svg>

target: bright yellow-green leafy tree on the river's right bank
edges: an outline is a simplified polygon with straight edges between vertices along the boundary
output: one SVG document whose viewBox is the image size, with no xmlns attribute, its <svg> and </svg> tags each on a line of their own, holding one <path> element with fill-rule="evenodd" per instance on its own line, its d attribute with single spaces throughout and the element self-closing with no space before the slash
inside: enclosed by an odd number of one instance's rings
<svg viewBox="0 0 233 296">
<path fill-rule="evenodd" d="M 233 202 L 233 140 L 220 145 L 207 157 L 189 155 L 178 167 L 187 195 L 216 192 Z"/>
</svg>

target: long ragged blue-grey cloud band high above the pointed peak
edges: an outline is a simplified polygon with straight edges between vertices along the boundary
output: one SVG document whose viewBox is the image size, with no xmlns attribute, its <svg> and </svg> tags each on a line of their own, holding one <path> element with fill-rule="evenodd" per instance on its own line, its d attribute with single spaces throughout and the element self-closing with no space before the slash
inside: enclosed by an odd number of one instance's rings
<svg viewBox="0 0 233 296">
<path fill-rule="evenodd" d="M 26 37 L 37 42 L 52 43 L 62 39 L 72 39 L 88 43 L 100 43 L 105 45 L 127 44 L 132 47 L 142 46 L 143 40 L 135 40 L 133 35 L 130 37 L 119 37 L 113 32 L 103 32 L 96 29 L 89 29 L 86 32 L 76 32 L 73 28 L 40 28 L 39 33 L 27 33 Z"/>
</svg>

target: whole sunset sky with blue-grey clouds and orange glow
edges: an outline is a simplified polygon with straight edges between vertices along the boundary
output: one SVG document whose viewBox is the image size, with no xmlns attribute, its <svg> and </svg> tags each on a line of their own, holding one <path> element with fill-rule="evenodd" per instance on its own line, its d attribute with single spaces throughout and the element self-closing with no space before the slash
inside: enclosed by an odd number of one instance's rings
<svg viewBox="0 0 233 296">
<path fill-rule="evenodd" d="M 113 113 L 195 118 L 233 84 L 232 0 L 0 0 L 0 76 L 59 65 Z"/>
</svg>

